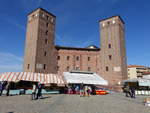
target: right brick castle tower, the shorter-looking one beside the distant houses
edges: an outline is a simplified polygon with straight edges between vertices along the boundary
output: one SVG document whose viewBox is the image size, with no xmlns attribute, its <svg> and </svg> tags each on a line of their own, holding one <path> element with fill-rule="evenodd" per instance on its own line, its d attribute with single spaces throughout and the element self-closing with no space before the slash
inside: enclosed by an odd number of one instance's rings
<svg viewBox="0 0 150 113">
<path fill-rule="evenodd" d="M 100 21 L 100 75 L 117 85 L 127 79 L 124 22 L 120 16 Z"/>
</svg>

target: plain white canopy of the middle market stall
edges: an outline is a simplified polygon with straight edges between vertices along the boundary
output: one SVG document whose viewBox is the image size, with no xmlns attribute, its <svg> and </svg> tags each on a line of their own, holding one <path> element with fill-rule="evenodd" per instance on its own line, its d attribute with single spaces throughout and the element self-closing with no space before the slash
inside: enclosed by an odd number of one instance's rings
<svg viewBox="0 0 150 113">
<path fill-rule="evenodd" d="M 94 85 L 108 85 L 108 82 L 96 73 L 86 72 L 64 72 L 64 79 L 69 84 L 94 84 Z"/>
</svg>

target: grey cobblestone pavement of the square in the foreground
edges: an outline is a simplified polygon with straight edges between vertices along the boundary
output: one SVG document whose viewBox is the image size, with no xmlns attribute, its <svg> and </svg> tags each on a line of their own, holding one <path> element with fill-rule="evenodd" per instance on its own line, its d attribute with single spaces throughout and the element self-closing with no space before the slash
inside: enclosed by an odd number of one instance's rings
<svg viewBox="0 0 150 113">
<path fill-rule="evenodd" d="M 144 96 L 126 98 L 121 93 L 80 97 L 79 95 L 44 95 L 31 100 L 30 95 L 0 97 L 0 113 L 150 113 Z"/>
</svg>

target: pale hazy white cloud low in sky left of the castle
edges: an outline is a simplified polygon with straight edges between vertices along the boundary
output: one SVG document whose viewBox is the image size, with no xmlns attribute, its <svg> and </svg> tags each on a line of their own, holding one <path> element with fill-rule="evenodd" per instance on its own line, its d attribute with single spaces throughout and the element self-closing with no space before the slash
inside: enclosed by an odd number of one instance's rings
<svg viewBox="0 0 150 113">
<path fill-rule="evenodd" d="M 0 52 L 0 72 L 18 72 L 22 71 L 22 57 L 12 53 Z"/>
</svg>

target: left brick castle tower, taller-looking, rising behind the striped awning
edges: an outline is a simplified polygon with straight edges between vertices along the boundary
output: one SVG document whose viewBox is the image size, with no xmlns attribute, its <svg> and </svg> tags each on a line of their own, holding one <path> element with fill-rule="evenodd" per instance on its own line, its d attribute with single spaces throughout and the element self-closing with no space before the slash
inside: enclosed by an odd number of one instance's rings
<svg viewBox="0 0 150 113">
<path fill-rule="evenodd" d="M 57 73 L 55 21 L 56 17 L 42 8 L 28 14 L 25 72 Z"/>
</svg>

